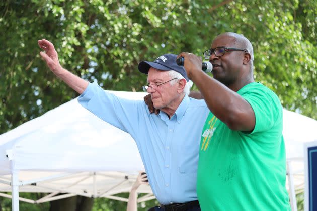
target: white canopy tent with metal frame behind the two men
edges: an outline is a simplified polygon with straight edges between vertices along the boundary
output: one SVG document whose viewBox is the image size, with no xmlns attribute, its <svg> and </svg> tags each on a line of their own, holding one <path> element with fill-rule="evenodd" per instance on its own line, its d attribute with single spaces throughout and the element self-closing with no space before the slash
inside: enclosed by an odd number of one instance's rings
<svg viewBox="0 0 317 211">
<path fill-rule="evenodd" d="M 128 99 L 145 95 L 111 92 Z M 317 121 L 287 110 L 283 118 L 287 187 L 296 210 L 295 191 L 304 186 L 303 143 L 317 139 Z M 0 135 L 0 196 L 13 197 L 13 210 L 19 210 L 19 199 L 42 203 L 82 195 L 127 201 L 114 194 L 129 192 L 143 169 L 130 135 L 98 119 L 77 99 Z M 147 193 L 139 202 L 154 198 L 148 186 L 139 190 Z M 12 196 L 1 193 L 10 191 Z M 19 192 L 50 194 L 30 200 L 18 198 Z"/>
</svg>

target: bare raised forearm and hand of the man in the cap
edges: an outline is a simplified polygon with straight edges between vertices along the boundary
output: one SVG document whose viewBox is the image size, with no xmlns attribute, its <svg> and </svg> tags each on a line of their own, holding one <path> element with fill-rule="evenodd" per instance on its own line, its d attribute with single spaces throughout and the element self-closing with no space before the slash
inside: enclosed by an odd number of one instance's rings
<svg viewBox="0 0 317 211">
<path fill-rule="evenodd" d="M 59 64 L 58 54 L 53 43 L 42 39 L 38 41 L 38 45 L 44 50 L 40 52 L 40 55 L 46 62 L 48 68 L 60 79 L 62 79 L 68 86 L 70 86 L 79 94 L 82 94 L 89 84 L 88 81 L 72 74 Z"/>
</svg>

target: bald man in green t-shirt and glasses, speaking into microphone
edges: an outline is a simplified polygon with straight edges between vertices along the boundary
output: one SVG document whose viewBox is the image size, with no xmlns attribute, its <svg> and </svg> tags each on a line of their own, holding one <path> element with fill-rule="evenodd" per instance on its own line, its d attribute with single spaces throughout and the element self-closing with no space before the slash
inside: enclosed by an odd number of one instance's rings
<svg viewBox="0 0 317 211">
<path fill-rule="evenodd" d="M 282 106 L 253 77 L 253 47 L 242 35 L 218 35 L 200 57 L 181 53 L 188 77 L 210 114 L 199 149 L 197 194 L 202 210 L 290 210 Z"/>
</svg>

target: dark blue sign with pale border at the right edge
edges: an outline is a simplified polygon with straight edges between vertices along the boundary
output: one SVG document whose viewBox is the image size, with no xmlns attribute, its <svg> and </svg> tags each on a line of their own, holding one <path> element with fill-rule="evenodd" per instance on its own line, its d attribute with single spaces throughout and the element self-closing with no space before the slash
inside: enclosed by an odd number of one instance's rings
<svg viewBox="0 0 317 211">
<path fill-rule="evenodd" d="M 317 146 L 307 148 L 309 211 L 317 211 Z"/>
</svg>

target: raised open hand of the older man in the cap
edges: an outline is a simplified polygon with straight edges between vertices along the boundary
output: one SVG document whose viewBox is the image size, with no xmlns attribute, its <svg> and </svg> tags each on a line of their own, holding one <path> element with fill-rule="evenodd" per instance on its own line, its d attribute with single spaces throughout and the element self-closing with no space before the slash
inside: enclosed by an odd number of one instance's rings
<svg viewBox="0 0 317 211">
<path fill-rule="evenodd" d="M 48 68 L 53 72 L 61 69 L 62 67 L 59 64 L 58 54 L 54 48 L 53 43 L 48 40 L 42 39 L 38 41 L 38 45 L 44 50 L 40 52 L 40 55 L 42 59 L 46 62 Z"/>
</svg>

